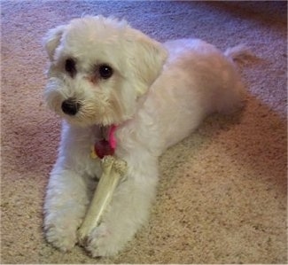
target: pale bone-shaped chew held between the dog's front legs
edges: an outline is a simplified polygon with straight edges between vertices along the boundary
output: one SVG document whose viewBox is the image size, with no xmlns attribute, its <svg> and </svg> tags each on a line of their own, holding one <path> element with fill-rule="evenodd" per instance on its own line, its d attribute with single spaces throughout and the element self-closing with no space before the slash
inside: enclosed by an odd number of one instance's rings
<svg viewBox="0 0 288 265">
<path fill-rule="evenodd" d="M 88 212 L 78 230 L 78 240 L 83 245 L 90 233 L 101 222 L 106 207 L 110 204 L 113 192 L 127 171 L 127 163 L 113 156 L 105 156 L 102 160 L 103 173 L 90 203 Z"/>
</svg>

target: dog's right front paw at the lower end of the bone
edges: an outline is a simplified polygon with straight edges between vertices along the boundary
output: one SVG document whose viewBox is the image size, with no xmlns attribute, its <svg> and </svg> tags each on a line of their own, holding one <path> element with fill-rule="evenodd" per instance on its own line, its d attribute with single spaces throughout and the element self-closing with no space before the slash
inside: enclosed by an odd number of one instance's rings
<svg viewBox="0 0 288 265">
<path fill-rule="evenodd" d="M 105 223 L 95 228 L 85 242 L 86 250 L 92 257 L 113 256 L 124 246 L 123 238 L 114 230 L 108 229 Z"/>
</svg>

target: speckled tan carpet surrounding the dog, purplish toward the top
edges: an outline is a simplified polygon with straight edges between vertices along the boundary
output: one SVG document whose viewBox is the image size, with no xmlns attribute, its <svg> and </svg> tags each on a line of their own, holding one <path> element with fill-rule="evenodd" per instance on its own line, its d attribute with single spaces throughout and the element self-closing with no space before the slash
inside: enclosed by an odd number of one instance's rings
<svg viewBox="0 0 288 265">
<path fill-rule="evenodd" d="M 286 263 L 286 2 L 2 1 L 1 263 Z M 150 222 L 114 258 L 43 238 L 59 121 L 43 105 L 41 38 L 86 14 L 128 19 L 160 41 L 247 43 L 245 109 L 214 115 L 160 159 Z"/>
</svg>

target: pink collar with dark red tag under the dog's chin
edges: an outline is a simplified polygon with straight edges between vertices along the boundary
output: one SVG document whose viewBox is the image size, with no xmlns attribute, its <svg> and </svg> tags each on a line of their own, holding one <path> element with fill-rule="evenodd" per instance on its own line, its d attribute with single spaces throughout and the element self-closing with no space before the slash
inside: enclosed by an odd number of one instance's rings
<svg viewBox="0 0 288 265">
<path fill-rule="evenodd" d="M 93 152 L 98 158 L 103 159 L 107 155 L 113 155 L 117 146 L 115 138 L 116 125 L 101 127 L 101 139 L 94 144 Z M 93 155 L 93 154 L 92 154 Z"/>
</svg>

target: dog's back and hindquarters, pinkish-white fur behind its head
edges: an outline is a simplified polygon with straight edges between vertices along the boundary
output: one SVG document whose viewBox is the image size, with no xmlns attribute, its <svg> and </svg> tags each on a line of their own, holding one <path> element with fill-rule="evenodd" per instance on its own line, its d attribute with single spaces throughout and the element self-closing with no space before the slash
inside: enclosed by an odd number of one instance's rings
<svg viewBox="0 0 288 265">
<path fill-rule="evenodd" d="M 169 57 L 144 108 L 157 110 L 153 120 L 166 149 L 190 135 L 207 114 L 236 110 L 242 105 L 244 86 L 233 63 L 241 58 L 240 49 L 222 53 L 198 39 L 164 45 Z"/>
</svg>

